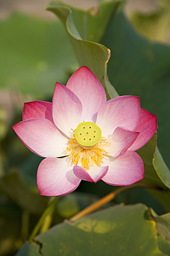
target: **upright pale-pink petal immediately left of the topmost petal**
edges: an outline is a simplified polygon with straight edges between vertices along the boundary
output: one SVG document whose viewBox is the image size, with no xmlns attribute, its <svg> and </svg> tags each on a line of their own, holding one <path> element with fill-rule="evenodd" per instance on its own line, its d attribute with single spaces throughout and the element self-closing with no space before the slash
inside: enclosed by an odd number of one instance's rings
<svg viewBox="0 0 170 256">
<path fill-rule="evenodd" d="M 63 84 L 56 83 L 52 99 L 52 116 L 56 127 L 67 136 L 81 122 L 82 104 L 77 96 Z"/>
</svg>

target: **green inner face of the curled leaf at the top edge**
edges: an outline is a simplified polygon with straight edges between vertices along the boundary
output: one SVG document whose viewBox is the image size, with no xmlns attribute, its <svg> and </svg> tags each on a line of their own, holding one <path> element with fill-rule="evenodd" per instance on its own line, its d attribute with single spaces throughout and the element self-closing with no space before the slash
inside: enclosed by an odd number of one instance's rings
<svg viewBox="0 0 170 256">
<path fill-rule="evenodd" d="M 105 33 L 105 29 L 109 24 L 109 20 L 111 19 L 111 15 L 113 15 L 116 8 L 119 6 L 120 1 L 107 1 L 107 3 L 101 3 L 100 6 L 96 6 L 91 8 L 90 10 L 81 10 L 77 8 L 73 8 L 72 6 L 67 6 L 72 11 L 72 19 L 74 21 L 74 25 L 76 30 L 74 30 L 74 35 L 76 37 L 80 37 L 84 40 L 89 40 L 93 42 L 100 42 L 101 37 Z M 57 1 L 51 2 L 47 10 L 53 10 L 56 6 L 60 6 L 61 12 L 65 11 L 65 4 Z M 70 11 L 69 11 L 70 12 Z M 54 11 L 54 13 L 56 13 Z M 59 11 L 56 15 L 59 14 Z M 65 23 L 65 20 L 62 19 Z M 70 21 L 69 21 L 70 22 Z M 72 29 L 74 29 L 74 25 L 67 24 L 68 26 L 72 26 L 70 33 L 72 33 Z"/>
</svg>

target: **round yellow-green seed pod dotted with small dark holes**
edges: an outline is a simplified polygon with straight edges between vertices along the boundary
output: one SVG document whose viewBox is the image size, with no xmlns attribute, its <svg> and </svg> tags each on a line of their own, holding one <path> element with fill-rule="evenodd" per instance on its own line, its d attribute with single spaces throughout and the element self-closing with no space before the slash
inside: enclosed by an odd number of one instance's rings
<svg viewBox="0 0 170 256">
<path fill-rule="evenodd" d="M 102 131 L 94 122 L 81 122 L 74 131 L 74 137 L 81 146 L 92 147 L 101 140 Z"/>
</svg>

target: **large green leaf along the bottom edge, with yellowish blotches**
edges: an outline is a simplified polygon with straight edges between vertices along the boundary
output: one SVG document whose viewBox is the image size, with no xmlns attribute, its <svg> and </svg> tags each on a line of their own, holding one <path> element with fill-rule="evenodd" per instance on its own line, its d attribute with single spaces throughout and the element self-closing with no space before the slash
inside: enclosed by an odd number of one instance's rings
<svg viewBox="0 0 170 256">
<path fill-rule="evenodd" d="M 156 223 L 141 204 L 115 206 L 73 223 L 61 223 L 34 241 L 39 254 L 34 244 L 25 244 L 17 256 L 165 255 L 158 247 Z"/>
</svg>

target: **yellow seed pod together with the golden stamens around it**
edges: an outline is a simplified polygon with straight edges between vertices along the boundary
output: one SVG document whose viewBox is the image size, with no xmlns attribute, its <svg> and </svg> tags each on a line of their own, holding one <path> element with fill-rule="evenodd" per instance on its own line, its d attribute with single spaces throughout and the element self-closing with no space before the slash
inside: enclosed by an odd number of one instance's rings
<svg viewBox="0 0 170 256">
<path fill-rule="evenodd" d="M 80 165 L 89 170 L 94 163 L 101 166 L 107 151 L 103 148 L 109 143 L 102 138 L 101 129 L 93 122 L 81 122 L 74 130 L 74 138 L 67 142 L 65 153 L 68 161 L 73 165 Z"/>
</svg>

